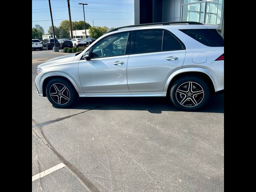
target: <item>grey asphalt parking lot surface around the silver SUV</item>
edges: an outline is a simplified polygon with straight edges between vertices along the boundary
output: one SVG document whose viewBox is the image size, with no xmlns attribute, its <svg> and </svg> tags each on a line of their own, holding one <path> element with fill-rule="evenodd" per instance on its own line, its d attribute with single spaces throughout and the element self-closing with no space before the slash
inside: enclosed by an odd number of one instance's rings
<svg viewBox="0 0 256 192">
<path fill-rule="evenodd" d="M 34 84 L 38 64 L 62 56 L 51 51 L 32 51 L 32 180 L 45 174 L 33 192 L 224 191 L 224 94 L 198 112 L 166 98 L 80 98 L 58 109 Z"/>
</svg>

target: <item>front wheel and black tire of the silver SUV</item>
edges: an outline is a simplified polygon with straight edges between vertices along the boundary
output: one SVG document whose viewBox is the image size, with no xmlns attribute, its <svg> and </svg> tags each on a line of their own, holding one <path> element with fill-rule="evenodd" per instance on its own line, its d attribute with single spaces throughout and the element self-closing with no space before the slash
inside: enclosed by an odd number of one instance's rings
<svg viewBox="0 0 256 192">
<path fill-rule="evenodd" d="M 78 94 L 69 81 L 54 78 L 46 85 L 46 96 L 54 106 L 67 108 L 76 101 Z"/>
</svg>

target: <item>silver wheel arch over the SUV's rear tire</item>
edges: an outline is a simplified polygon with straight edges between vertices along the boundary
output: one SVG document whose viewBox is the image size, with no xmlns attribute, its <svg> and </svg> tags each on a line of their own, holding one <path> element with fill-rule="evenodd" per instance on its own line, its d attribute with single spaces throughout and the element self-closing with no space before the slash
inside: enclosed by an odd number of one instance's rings
<svg viewBox="0 0 256 192">
<path fill-rule="evenodd" d="M 204 69 L 204 68 L 182 68 L 180 70 L 175 71 L 172 73 L 169 78 L 166 81 L 166 84 L 164 86 L 164 91 L 168 92 L 170 91 L 170 88 L 172 87 L 172 84 L 178 79 L 183 76 L 188 76 L 188 75 L 194 75 L 201 77 L 206 81 L 206 83 L 210 86 L 210 92 L 213 94 L 215 92 L 215 81 L 210 73 L 210 71 Z M 166 95 L 167 96 L 167 95 Z"/>
</svg>

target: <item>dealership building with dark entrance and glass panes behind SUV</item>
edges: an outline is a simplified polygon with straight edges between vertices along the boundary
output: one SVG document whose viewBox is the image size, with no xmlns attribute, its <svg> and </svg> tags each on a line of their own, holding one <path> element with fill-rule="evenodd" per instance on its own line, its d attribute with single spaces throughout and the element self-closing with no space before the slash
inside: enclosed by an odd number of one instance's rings
<svg viewBox="0 0 256 192">
<path fill-rule="evenodd" d="M 224 0 L 134 0 L 134 24 L 179 21 L 216 24 L 224 36 Z"/>
</svg>

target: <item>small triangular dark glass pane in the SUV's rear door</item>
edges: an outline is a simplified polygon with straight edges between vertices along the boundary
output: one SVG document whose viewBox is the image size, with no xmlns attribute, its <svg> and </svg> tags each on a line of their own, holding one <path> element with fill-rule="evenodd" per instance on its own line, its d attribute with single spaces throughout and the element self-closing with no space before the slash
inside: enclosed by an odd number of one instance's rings
<svg viewBox="0 0 256 192">
<path fill-rule="evenodd" d="M 164 31 L 163 51 L 182 49 L 185 49 L 185 46 L 182 46 L 182 44 L 172 34 Z"/>
</svg>

